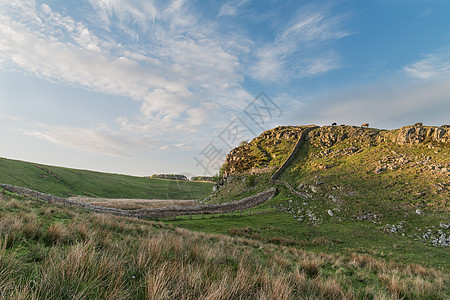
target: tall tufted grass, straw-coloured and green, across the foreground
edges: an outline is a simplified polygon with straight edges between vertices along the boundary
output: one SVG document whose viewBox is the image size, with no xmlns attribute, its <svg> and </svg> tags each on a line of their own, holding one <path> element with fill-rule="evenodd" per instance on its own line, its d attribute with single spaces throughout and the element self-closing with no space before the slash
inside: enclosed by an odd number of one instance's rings
<svg viewBox="0 0 450 300">
<path fill-rule="evenodd" d="M 300 245 L 192 232 L 10 194 L 0 195 L 0 241 L 2 299 L 446 299 L 449 295 L 448 273 L 417 264 L 359 253 L 307 252 Z"/>
</svg>

